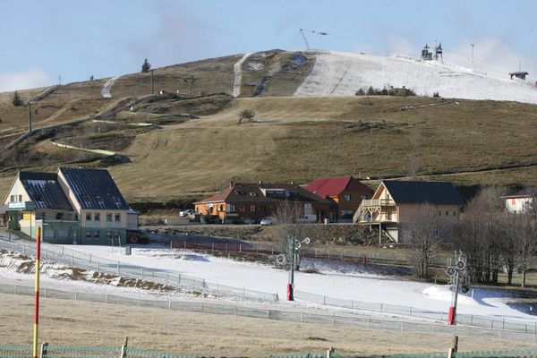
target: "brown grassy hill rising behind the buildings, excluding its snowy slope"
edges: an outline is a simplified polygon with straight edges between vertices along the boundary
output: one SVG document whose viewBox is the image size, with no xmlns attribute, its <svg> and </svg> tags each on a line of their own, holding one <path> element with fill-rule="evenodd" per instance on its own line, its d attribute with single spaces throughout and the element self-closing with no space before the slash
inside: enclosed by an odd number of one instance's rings
<svg viewBox="0 0 537 358">
<path fill-rule="evenodd" d="M 420 97 L 282 97 L 300 85 L 312 61 L 280 51 L 251 55 L 255 65 L 243 64 L 241 96 L 233 98 L 233 66 L 240 58 L 157 69 L 155 89 L 165 95 L 148 96 L 147 73 L 120 77 L 112 98 L 100 96 L 107 80 L 58 87 L 32 106 L 37 110 L 35 126 L 86 120 L 38 131 L 4 149 L 0 192 L 7 191 L 21 168 L 54 170 L 58 165 L 107 167 L 130 200 L 201 197 L 230 180 L 309 183 L 345 174 L 379 180 L 413 171 L 458 185 L 534 185 L 536 105 Z M 199 79 L 194 93 L 175 95 L 177 90 L 188 93 L 190 83 L 183 78 L 190 75 Z M 27 99 L 43 90 L 20 93 Z M 13 107 L 10 96 L 0 94 L 2 147 L 27 129 L 26 107 Z M 237 123 L 243 109 L 255 112 L 254 122 Z M 117 156 L 61 149 L 51 140 L 112 150 Z"/>
</svg>

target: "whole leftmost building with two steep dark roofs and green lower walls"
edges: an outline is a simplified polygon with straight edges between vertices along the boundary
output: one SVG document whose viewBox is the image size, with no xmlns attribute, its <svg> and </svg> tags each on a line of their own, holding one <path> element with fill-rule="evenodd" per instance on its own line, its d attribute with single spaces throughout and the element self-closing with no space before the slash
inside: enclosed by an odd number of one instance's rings
<svg viewBox="0 0 537 358">
<path fill-rule="evenodd" d="M 7 226 L 48 243 L 124 244 L 129 206 L 103 169 L 20 172 L 4 205 Z"/>
</svg>

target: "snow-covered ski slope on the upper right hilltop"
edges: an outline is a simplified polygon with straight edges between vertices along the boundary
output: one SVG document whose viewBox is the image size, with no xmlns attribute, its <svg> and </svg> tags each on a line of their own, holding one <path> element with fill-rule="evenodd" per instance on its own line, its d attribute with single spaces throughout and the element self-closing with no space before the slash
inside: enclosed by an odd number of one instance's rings
<svg viewBox="0 0 537 358">
<path fill-rule="evenodd" d="M 357 90 L 405 86 L 419 96 L 537 103 L 531 81 L 494 78 L 452 64 L 410 57 L 315 52 L 311 73 L 294 96 L 354 96 Z"/>
</svg>

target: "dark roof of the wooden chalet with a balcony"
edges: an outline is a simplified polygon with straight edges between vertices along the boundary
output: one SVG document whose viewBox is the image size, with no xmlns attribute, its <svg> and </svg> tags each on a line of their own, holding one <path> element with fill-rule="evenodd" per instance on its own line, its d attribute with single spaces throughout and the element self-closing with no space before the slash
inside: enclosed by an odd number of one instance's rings
<svg viewBox="0 0 537 358">
<path fill-rule="evenodd" d="M 384 186 L 386 186 L 388 192 L 398 204 L 463 205 L 463 200 L 452 183 L 403 182 L 395 180 L 385 180 L 382 183 L 384 183 Z"/>
</svg>

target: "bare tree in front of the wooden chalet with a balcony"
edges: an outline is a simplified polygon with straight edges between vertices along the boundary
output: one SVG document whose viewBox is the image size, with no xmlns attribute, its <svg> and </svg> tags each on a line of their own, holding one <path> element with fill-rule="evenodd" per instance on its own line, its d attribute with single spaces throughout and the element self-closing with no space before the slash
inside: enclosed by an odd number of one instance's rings
<svg viewBox="0 0 537 358">
<path fill-rule="evenodd" d="M 412 258 L 419 277 L 429 277 L 430 263 L 440 249 L 440 240 L 445 233 L 444 226 L 439 221 L 437 210 L 430 204 L 424 204 L 419 214 L 413 217 L 410 225 L 412 238 Z"/>
</svg>

